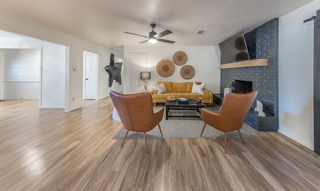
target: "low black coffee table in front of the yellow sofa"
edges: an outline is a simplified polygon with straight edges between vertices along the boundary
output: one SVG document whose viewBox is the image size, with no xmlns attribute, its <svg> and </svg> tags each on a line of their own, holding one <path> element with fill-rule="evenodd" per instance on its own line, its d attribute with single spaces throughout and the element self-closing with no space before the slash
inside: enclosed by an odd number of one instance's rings
<svg viewBox="0 0 320 191">
<path fill-rule="evenodd" d="M 197 115 L 169 115 L 169 110 L 196 110 L 199 114 L 201 114 L 200 109 L 205 107 L 205 104 L 202 102 L 196 102 L 195 99 L 188 99 L 187 104 L 179 104 L 178 101 L 165 101 L 165 119 L 169 117 L 192 117 L 199 118 Z"/>
</svg>

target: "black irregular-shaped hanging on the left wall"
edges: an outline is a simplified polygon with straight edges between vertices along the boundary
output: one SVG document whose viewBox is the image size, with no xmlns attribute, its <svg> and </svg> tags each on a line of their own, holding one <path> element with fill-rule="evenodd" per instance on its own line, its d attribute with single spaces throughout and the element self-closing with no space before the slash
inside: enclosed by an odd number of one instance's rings
<svg viewBox="0 0 320 191">
<path fill-rule="evenodd" d="M 121 67 L 122 62 L 114 63 L 114 55 L 111 54 L 110 64 L 104 68 L 109 73 L 109 87 L 112 86 L 113 80 L 121 84 Z"/>
</svg>

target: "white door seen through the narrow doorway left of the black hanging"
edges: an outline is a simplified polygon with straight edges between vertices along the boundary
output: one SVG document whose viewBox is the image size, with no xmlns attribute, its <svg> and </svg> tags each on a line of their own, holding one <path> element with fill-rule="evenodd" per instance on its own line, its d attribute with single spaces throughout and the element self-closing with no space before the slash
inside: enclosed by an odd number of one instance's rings
<svg viewBox="0 0 320 191">
<path fill-rule="evenodd" d="M 97 54 L 84 52 L 84 83 L 83 94 L 84 99 L 96 99 L 96 85 L 97 85 Z"/>
</svg>

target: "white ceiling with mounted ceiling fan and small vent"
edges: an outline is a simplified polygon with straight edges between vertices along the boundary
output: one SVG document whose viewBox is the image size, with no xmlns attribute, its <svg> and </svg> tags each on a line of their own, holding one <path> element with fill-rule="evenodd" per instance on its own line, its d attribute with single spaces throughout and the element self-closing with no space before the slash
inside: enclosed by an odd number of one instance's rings
<svg viewBox="0 0 320 191">
<path fill-rule="evenodd" d="M 139 44 L 154 31 L 172 45 L 217 45 L 312 0 L 0 0 L 0 8 L 104 47 Z M 305 18 L 307 19 L 307 18 Z M 303 22 L 301 20 L 301 22 Z M 196 30 L 205 30 L 201 35 Z M 1 35 L 1 33 L 0 33 Z M 157 42 L 155 45 L 171 45 Z"/>
</svg>

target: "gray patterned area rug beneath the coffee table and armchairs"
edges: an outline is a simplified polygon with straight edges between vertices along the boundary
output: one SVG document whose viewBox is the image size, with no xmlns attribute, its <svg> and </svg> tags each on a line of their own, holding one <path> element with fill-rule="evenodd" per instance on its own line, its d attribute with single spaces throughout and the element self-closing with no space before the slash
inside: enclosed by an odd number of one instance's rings
<svg viewBox="0 0 320 191">
<path fill-rule="evenodd" d="M 154 107 L 154 110 L 159 107 Z M 207 107 L 207 109 L 216 111 L 218 107 Z M 170 112 L 170 111 L 169 111 Z M 187 115 L 187 112 L 193 112 L 190 110 L 183 110 L 174 112 L 176 115 Z M 173 114 L 173 112 L 172 112 Z M 223 138 L 224 132 L 216 130 L 209 125 L 206 125 L 202 137 L 200 133 L 204 122 L 200 118 L 169 118 L 165 120 L 165 111 L 163 119 L 160 122 L 163 137 L 161 137 L 159 128 L 156 126 L 151 131 L 146 132 L 147 139 L 182 139 L 182 138 Z M 252 131 L 247 126 L 243 125 L 240 129 L 243 138 L 258 138 L 260 137 L 257 133 Z M 126 133 L 126 129 L 122 127 L 112 139 L 123 139 Z M 237 131 L 227 133 L 228 138 L 239 138 Z M 129 131 L 126 139 L 144 139 L 143 133 Z"/>
</svg>

